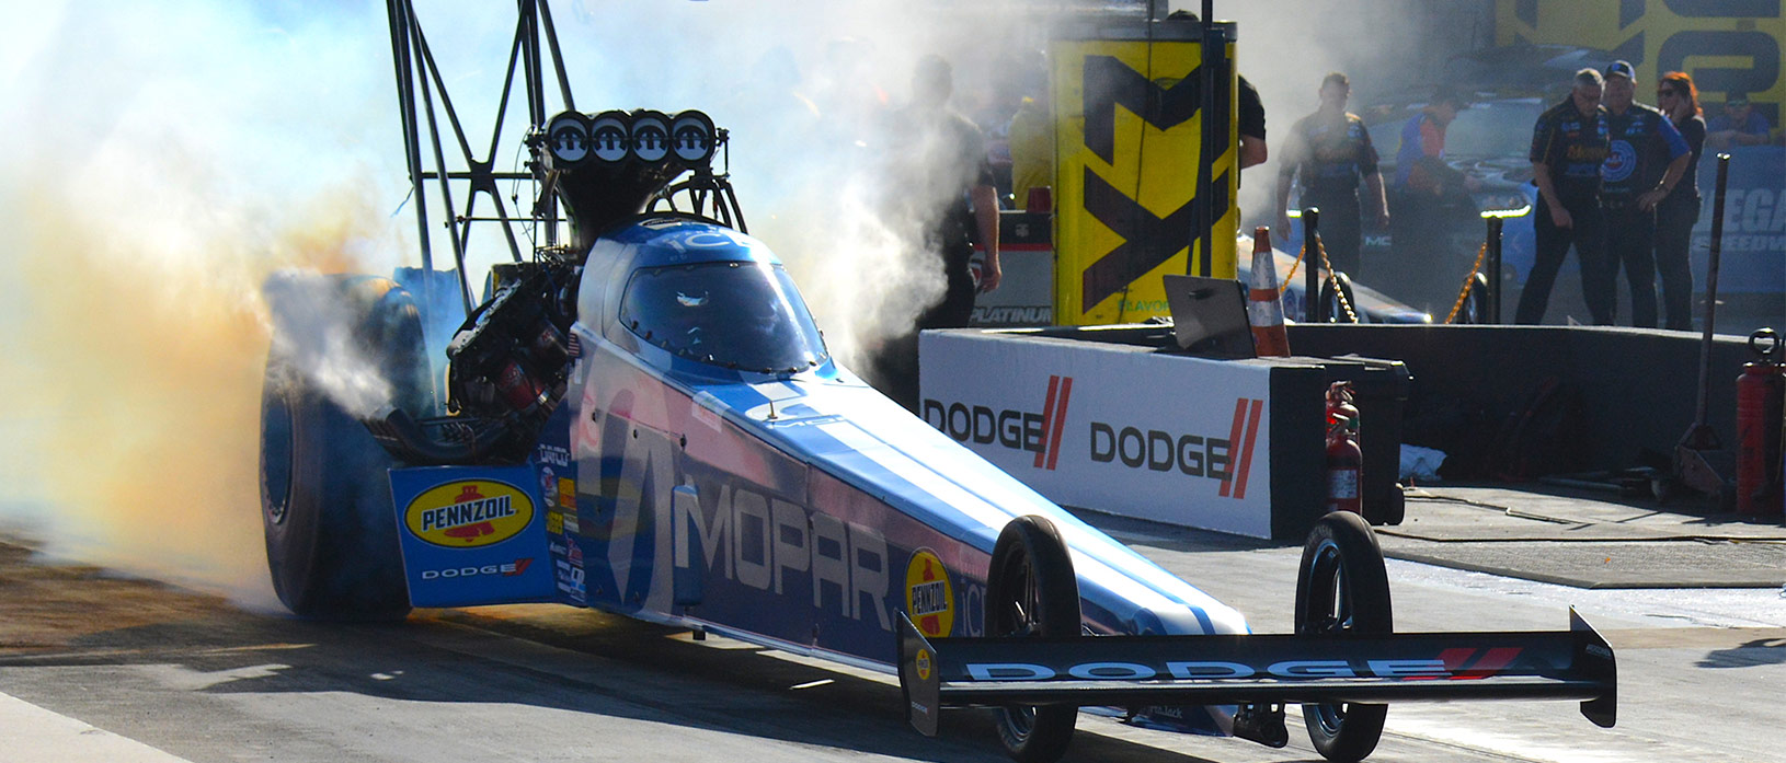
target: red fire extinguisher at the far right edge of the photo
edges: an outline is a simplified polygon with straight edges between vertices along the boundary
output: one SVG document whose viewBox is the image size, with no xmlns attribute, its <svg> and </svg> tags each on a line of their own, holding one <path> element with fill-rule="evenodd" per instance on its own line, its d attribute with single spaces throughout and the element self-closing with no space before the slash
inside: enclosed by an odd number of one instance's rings
<svg viewBox="0 0 1786 763">
<path fill-rule="evenodd" d="M 1743 374 L 1736 378 L 1736 512 L 1766 513 L 1781 506 L 1781 396 L 1786 394 L 1786 376 L 1773 362 L 1781 340 L 1772 328 L 1750 333 L 1748 349 L 1756 360 L 1743 364 Z"/>
</svg>

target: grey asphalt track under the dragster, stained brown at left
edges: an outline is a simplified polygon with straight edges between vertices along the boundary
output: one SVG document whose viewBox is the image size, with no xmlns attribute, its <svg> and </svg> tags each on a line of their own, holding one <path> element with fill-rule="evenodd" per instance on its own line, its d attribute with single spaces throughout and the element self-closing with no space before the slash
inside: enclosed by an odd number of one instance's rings
<svg viewBox="0 0 1786 763">
<path fill-rule="evenodd" d="M 1114 535 L 1288 631 L 1300 549 L 1136 522 Z M 1404 704 L 1373 761 L 1786 761 L 1777 588 L 1582 590 L 1390 562 L 1397 629 L 1559 629 L 1581 608 L 1620 660 L 1620 718 L 1573 702 Z M 1002 761 L 986 718 L 911 731 L 898 686 L 736 642 L 559 606 L 398 626 L 241 611 L 0 544 L 0 759 Z M 1068 761 L 1320 759 L 1291 743 L 1082 715 Z"/>
</svg>

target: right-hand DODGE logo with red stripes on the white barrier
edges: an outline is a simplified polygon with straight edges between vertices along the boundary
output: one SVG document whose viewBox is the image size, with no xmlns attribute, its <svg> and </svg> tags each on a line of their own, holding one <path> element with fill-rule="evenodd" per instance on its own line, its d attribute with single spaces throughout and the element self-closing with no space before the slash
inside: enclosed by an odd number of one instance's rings
<svg viewBox="0 0 1786 763">
<path fill-rule="evenodd" d="M 1222 497 L 1232 494 L 1232 497 L 1243 499 L 1247 497 L 1247 476 L 1252 471 L 1252 451 L 1257 444 L 1263 414 L 1263 399 L 1236 399 L 1234 423 L 1227 439 L 1141 430 L 1139 426 L 1118 428 L 1118 424 L 1093 421 L 1091 460 L 1095 464 L 1122 462 L 1129 469 L 1179 471 L 1184 476 L 1220 480 Z"/>
</svg>

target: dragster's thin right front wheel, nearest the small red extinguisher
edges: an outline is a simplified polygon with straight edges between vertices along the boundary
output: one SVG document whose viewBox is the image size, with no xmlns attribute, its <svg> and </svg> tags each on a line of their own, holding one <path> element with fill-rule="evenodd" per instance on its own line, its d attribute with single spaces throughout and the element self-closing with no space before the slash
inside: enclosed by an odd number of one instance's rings
<svg viewBox="0 0 1786 763">
<path fill-rule="evenodd" d="M 1365 519 L 1332 512 L 1314 522 L 1297 574 L 1297 633 L 1393 633 L 1390 574 L 1382 547 Z M 1390 706 L 1365 702 L 1304 704 L 1314 751 L 1334 763 L 1365 759 L 1382 738 Z"/>
</svg>

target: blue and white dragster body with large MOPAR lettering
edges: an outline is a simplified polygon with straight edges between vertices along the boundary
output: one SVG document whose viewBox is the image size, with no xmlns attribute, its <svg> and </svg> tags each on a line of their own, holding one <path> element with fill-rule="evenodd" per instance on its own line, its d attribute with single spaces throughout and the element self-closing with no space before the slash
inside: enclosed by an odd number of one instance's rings
<svg viewBox="0 0 1786 763">
<path fill-rule="evenodd" d="M 695 278 L 650 285 L 677 275 Z M 722 285 L 773 308 L 727 305 Z M 641 303 L 654 296 L 668 305 Z M 673 316 L 704 310 L 730 312 Z M 727 326 L 791 339 L 793 355 L 750 369 L 680 344 L 689 330 L 738 340 Z M 891 670 L 902 611 L 931 638 L 982 635 L 993 544 L 1041 515 L 1072 549 L 1088 633 L 1247 633 L 838 365 L 748 235 L 688 217 L 604 235 L 572 332 L 564 405 L 527 464 L 391 471 L 416 606 L 559 601 Z M 500 517 L 468 508 L 498 496 Z M 1227 717 L 1189 724 L 1225 731 Z"/>
</svg>

